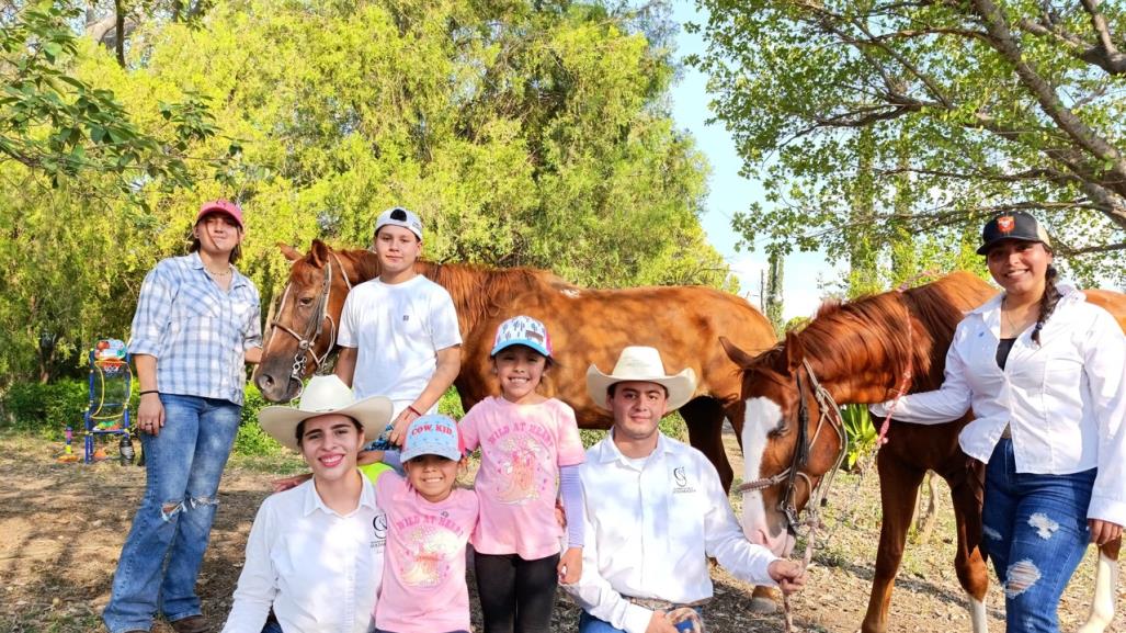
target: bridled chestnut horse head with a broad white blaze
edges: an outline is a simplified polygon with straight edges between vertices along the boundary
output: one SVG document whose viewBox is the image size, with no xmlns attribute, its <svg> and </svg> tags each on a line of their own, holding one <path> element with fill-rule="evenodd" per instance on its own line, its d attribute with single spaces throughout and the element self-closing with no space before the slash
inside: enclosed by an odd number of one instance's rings
<svg viewBox="0 0 1126 633">
<path fill-rule="evenodd" d="M 788 553 L 798 514 L 822 478 L 840 464 L 840 412 L 806 359 L 799 335 L 751 357 L 721 338 L 742 368 L 743 532 L 778 555 Z"/>
</svg>

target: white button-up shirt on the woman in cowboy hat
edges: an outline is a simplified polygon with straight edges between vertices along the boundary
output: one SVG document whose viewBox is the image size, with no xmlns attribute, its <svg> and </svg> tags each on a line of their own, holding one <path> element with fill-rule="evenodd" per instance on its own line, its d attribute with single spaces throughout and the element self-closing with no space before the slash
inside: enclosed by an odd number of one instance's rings
<svg viewBox="0 0 1126 633">
<path fill-rule="evenodd" d="M 383 580 L 386 516 L 364 479 L 359 506 L 338 515 L 312 481 L 262 501 L 223 633 L 366 633 Z"/>
</svg>

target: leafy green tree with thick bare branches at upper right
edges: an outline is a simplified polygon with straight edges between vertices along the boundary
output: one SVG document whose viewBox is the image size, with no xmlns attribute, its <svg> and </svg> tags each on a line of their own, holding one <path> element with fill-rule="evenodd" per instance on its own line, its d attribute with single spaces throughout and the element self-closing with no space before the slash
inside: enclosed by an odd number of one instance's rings
<svg viewBox="0 0 1126 633">
<path fill-rule="evenodd" d="M 696 63 L 770 191 L 739 217 L 749 240 L 848 257 L 851 229 L 960 243 L 992 213 L 1031 209 L 1073 271 L 1123 279 L 1121 3 L 699 5 Z M 843 213 L 869 177 L 874 215 Z"/>
</svg>

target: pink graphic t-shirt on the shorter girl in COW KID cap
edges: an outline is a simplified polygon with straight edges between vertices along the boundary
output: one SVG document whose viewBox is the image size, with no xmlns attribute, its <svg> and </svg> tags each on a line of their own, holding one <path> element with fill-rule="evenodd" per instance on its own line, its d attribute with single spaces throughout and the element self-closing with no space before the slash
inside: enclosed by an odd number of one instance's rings
<svg viewBox="0 0 1126 633">
<path fill-rule="evenodd" d="M 394 473 L 379 476 L 375 496 L 387 512 L 376 627 L 394 633 L 468 631 L 465 545 L 477 524 L 477 496 L 454 489 L 431 503 Z"/>
</svg>

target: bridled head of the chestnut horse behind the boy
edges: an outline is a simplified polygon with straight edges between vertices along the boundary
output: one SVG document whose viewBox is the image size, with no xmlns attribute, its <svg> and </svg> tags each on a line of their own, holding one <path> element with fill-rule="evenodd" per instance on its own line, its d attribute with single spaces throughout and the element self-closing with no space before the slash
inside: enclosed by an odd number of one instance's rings
<svg viewBox="0 0 1126 633">
<path fill-rule="evenodd" d="M 320 240 L 313 240 L 307 255 L 283 243 L 278 248 L 292 262 L 289 279 L 267 319 L 254 384 L 266 400 L 288 402 L 336 347 L 345 298 L 363 275 L 355 256 Z"/>
</svg>

